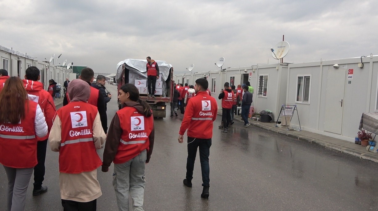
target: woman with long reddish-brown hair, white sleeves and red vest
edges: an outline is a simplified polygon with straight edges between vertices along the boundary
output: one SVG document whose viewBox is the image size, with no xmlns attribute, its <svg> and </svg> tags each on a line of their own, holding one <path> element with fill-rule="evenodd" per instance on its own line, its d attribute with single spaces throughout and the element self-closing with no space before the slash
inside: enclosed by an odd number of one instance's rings
<svg viewBox="0 0 378 211">
<path fill-rule="evenodd" d="M 47 134 L 40 106 L 27 99 L 18 77 L 6 80 L 0 93 L 0 163 L 8 177 L 7 202 L 2 210 L 24 210 L 26 191 L 37 165 L 37 137 Z M 37 137 L 36 137 L 37 136 Z"/>
</svg>

